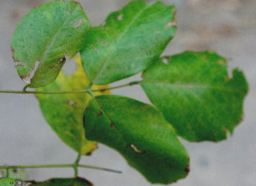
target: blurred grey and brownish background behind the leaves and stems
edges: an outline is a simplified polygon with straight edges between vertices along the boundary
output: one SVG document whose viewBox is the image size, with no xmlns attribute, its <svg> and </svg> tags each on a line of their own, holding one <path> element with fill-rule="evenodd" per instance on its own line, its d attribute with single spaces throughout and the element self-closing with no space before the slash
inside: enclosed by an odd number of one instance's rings
<svg viewBox="0 0 256 186">
<path fill-rule="evenodd" d="M 77 0 L 93 26 L 129 0 Z M 22 90 L 25 85 L 15 70 L 10 40 L 20 19 L 45 0 L 0 1 L 0 90 Z M 229 70 L 239 67 L 249 83 L 244 102 L 245 118 L 232 137 L 223 142 L 191 143 L 181 140 L 189 151 L 190 172 L 174 186 L 253 186 L 256 183 L 256 3 L 255 0 L 165 0 L 177 7 L 177 34 L 164 55 L 184 50 L 215 50 L 230 59 Z M 69 68 L 65 64 L 65 69 Z M 140 78 L 125 79 L 124 84 Z M 148 102 L 139 86 L 113 90 Z M 44 120 L 33 95 L 0 94 L 0 165 L 73 163 L 77 154 L 55 135 Z M 99 145 L 82 164 L 123 171 L 80 169 L 96 186 L 148 186 L 143 176 L 127 165 L 114 150 Z M 43 181 L 50 177 L 73 177 L 73 169 L 31 169 L 28 178 Z M 157 185 L 157 184 L 156 184 Z"/>
</svg>

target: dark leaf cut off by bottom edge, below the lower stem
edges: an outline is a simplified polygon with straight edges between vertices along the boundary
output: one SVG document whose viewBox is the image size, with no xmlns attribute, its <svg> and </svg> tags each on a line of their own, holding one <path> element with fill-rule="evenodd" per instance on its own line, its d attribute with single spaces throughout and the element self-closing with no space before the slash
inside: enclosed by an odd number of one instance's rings
<svg viewBox="0 0 256 186">
<path fill-rule="evenodd" d="M 30 185 L 40 185 L 40 186 L 93 186 L 88 180 L 77 177 L 77 178 L 53 178 L 42 183 L 33 182 Z"/>
</svg>

